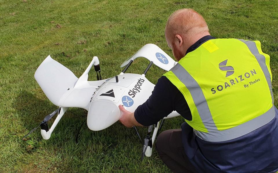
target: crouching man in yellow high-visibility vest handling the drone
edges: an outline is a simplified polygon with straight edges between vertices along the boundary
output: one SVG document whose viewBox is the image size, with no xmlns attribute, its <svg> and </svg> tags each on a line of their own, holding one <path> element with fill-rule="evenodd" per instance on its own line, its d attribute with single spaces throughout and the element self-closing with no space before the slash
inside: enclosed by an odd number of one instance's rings
<svg viewBox="0 0 278 173">
<path fill-rule="evenodd" d="M 186 121 L 182 129 L 163 131 L 156 143 L 173 172 L 277 170 L 270 57 L 259 41 L 215 39 L 192 9 L 169 16 L 165 38 L 178 64 L 134 114 L 119 106 L 120 121 L 127 127 L 147 126 L 172 110 L 180 113 Z"/>
</svg>

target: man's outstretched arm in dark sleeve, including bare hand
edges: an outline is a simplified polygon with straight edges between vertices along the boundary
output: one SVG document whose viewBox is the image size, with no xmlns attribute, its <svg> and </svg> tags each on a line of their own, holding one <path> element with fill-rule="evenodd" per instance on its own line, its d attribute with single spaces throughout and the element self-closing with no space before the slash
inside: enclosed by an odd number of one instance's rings
<svg viewBox="0 0 278 173">
<path fill-rule="evenodd" d="M 158 79 L 149 99 L 138 106 L 135 112 L 131 113 L 122 105 L 119 106 L 123 113 L 120 122 L 127 127 L 155 124 L 174 110 L 175 97 L 178 93 L 180 91 L 165 76 L 162 76 Z"/>
</svg>

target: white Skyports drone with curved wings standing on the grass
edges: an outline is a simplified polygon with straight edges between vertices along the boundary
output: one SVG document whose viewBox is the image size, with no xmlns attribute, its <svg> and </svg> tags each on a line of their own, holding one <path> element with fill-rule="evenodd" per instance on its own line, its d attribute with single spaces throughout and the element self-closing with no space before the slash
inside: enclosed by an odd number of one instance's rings
<svg viewBox="0 0 278 173">
<path fill-rule="evenodd" d="M 138 57 L 144 57 L 150 61 L 145 72 L 143 74 L 125 73 L 131 63 Z M 54 105 L 59 106 L 59 108 L 45 116 L 44 120 L 40 123 L 39 126 L 41 127 L 43 139 L 47 140 L 50 138 L 54 128 L 69 107 L 86 109 L 88 111 L 87 126 L 93 131 L 111 126 L 122 115 L 118 105 L 121 104 L 126 110 L 134 112 L 151 95 L 155 85 L 149 82 L 145 74 L 152 64 L 169 71 L 176 63 L 158 46 L 146 44 L 127 61 L 122 63 L 121 67 L 126 67 L 118 76 L 102 80 L 98 57 L 93 57 L 85 72 L 80 78 L 77 78 L 69 69 L 53 60 L 49 55 L 36 70 L 35 79 L 47 98 Z M 88 81 L 88 73 L 93 65 L 98 80 Z M 58 116 L 49 129 L 47 122 L 57 112 Z M 179 114 L 174 111 L 164 119 L 175 116 L 179 116 Z M 156 123 L 152 136 L 150 135 L 153 125 L 149 126 L 147 137 L 143 141 L 136 127 L 134 127 L 143 143 L 141 159 L 143 159 L 144 155 L 147 157 L 151 156 L 152 146 L 162 121 L 163 119 Z M 35 129 L 30 131 L 30 133 Z"/>
</svg>

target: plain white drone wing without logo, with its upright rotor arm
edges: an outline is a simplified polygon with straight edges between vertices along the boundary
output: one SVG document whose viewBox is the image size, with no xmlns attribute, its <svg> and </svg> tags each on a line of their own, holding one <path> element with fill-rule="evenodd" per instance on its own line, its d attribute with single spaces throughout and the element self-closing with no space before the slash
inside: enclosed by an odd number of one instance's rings
<svg viewBox="0 0 278 173">
<path fill-rule="evenodd" d="M 36 70 L 35 79 L 54 105 L 88 110 L 92 94 L 105 81 L 87 81 L 89 69 L 94 62 L 95 59 L 78 79 L 72 71 L 49 55 Z"/>
</svg>

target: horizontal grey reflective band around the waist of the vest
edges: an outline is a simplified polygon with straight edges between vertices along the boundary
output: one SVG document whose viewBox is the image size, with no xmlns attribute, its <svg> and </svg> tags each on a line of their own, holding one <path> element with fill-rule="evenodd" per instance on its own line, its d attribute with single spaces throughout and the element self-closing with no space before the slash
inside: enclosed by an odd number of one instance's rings
<svg viewBox="0 0 278 173">
<path fill-rule="evenodd" d="M 251 131 L 254 131 L 255 129 L 261 126 L 266 125 L 274 117 L 275 117 L 275 109 L 274 106 L 272 106 L 272 108 L 270 108 L 266 113 L 257 116 L 256 118 L 249 120 L 243 124 L 235 126 L 231 129 L 219 130 L 216 132 L 209 132 L 209 133 L 197 131 L 194 129 L 193 131 L 196 136 L 198 136 L 199 138 L 205 141 L 209 141 L 209 142 L 227 141 L 227 140 L 235 139 L 240 136 L 246 135 L 247 133 L 250 133 Z"/>
</svg>

